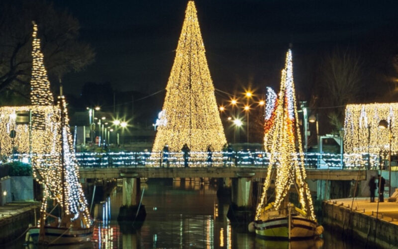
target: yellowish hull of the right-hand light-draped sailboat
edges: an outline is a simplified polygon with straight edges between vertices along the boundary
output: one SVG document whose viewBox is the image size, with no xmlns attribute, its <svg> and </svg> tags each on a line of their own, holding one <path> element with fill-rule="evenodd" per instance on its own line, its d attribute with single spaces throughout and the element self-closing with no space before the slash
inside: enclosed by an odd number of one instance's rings
<svg viewBox="0 0 398 249">
<path fill-rule="evenodd" d="M 292 217 L 291 219 L 290 236 L 288 217 L 255 221 L 256 235 L 268 240 L 306 240 L 318 236 L 315 222 L 303 217 Z"/>
</svg>

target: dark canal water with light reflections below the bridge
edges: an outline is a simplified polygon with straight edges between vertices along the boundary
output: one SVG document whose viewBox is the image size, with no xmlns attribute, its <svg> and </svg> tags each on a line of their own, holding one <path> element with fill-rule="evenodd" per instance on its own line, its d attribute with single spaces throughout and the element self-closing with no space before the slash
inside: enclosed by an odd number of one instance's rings
<svg viewBox="0 0 398 249">
<path fill-rule="evenodd" d="M 229 200 L 218 199 L 216 188 L 194 181 L 151 179 L 141 184 L 147 217 L 142 227 L 120 228 L 116 218 L 122 202 L 121 187 L 115 188 L 100 205 L 103 220 L 98 222 L 93 244 L 80 248 L 96 249 L 362 249 L 358 242 L 341 240 L 341 233 L 325 231 L 322 240 L 264 242 L 246 232 L 246 225 L 232 226 L 226 218 Z M 110 209 L 107 209 L 110 207 Z M 24 248 L 24 237 L 5 248 Z M 79 248 L 79 247 L 69 247 Z"/>
</svg>

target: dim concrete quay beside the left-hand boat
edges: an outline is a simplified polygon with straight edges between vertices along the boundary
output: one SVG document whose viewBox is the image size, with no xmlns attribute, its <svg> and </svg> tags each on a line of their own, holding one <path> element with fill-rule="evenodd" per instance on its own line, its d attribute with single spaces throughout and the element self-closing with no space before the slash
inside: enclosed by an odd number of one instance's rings
<svg viewBox="0 0 398 249">
<path fill-rule="evenodd" d="M 36 212 L 35 212 L 36 210 Z M 22 235 L 35 217 L 40 218 L 40 202 L 20 201 L 0 206 L 0 248 Z"/>
</svg>

